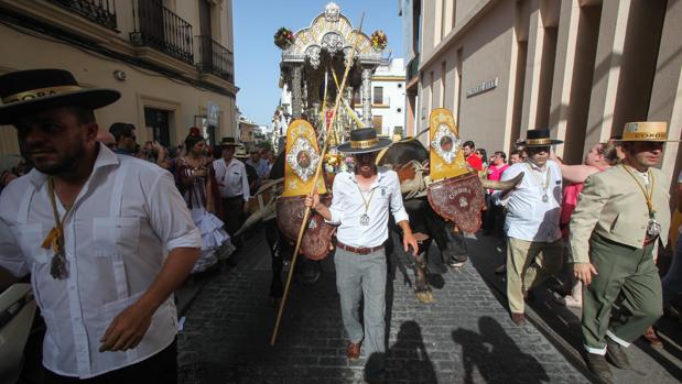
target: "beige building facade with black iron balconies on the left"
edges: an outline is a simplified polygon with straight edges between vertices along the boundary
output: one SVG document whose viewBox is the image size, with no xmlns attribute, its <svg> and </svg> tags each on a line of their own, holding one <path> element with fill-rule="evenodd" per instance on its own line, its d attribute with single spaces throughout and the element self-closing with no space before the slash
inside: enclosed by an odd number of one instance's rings
<svg viewBox="0 0 682 384">
<path fill-rule="evenodd" d="M 235 135 L 231 0 L 0 0 L 0 74 L 62 68 L 121 92 L 100 128 L 133 123 L 140 144 L 176 145 L 191 127 L 212 144 Z M 0 154 L 15 153 L 0 129 Z"/>
</svg>

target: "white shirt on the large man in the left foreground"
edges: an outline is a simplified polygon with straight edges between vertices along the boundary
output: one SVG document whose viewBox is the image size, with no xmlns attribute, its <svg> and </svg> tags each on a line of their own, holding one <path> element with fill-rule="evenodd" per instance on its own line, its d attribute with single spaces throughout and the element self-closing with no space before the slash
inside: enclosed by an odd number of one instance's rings
<svg viewBox="0 0 682 384">
<path fill-rule="evenodd" d="M 61 375 L 91 377 L 140 362 L 175 337 L 173 296 L 152 317 L 140 344 L 99 352 L 111 320 L 152 284 L 166 251 L 201 248 L 202 239 L 173 176 L 104 145 L 90 178 L 64 222 L 68 276 L 50 275 L 52 250 L 41 248 L 54 227 L 47 177 L 36 169 L 0 196 L 0 265 L 31 285 L 47 332 L 43 365 Z M 65 209 L 56 199 L 64 218 Z"/>
</svg>

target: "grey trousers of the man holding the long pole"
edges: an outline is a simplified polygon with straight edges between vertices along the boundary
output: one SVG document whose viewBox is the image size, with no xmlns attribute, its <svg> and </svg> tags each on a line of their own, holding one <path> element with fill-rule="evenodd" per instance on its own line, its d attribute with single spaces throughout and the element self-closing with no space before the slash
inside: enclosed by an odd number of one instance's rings
<svg viewBox="0 0 682 384">
<path fill-rule="evenodd" d="M 334 264 L 344 328 L 350 342 L 359 343 L 364 339 L 367 359 L 372 353 L 386 352 L 386 251 L 381 249 L 369 254 L 357 254 L 337 248 Z M 365 332 L 359 312 L 362 297 Z"/>
</svg>

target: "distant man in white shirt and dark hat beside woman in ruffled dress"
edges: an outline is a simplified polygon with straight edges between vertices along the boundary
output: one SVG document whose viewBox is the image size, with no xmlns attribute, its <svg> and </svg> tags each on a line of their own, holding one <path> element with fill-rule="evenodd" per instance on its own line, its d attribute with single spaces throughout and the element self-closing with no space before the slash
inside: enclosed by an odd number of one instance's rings
<svg viewBox="0 0 682 384">
<path fill-rule="evenodd" d="M 239 146 L 235 138 L 223 138 L 220 146 L 221 157 L 213 162 L 213 167 L 223 199 L 221 219 L 225 230 L 232 237 L 243 222 L 243 207 L 250 196 L 249 180 L 243 163 L 235 158 L 235 150 Z"/>
</svg>

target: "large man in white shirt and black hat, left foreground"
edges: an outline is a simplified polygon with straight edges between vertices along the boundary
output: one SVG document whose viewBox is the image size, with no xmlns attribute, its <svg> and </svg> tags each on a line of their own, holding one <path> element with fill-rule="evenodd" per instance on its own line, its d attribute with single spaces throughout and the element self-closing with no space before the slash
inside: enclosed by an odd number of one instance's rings
<svg viewBox="0 0 682 384">
<path fill-rule="evenodd" d="M 0 76 L 0 124 L 35 166 L 0 197 L 0 265 L 31 273 L 45 383 L 176 381 L 173 290 L 202 240 L 170 173 L 98 143 L 113 89 L 59 69 Z M 164 251 L 169 254 L 164 257 Z"/>
</svg>

